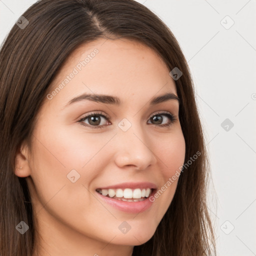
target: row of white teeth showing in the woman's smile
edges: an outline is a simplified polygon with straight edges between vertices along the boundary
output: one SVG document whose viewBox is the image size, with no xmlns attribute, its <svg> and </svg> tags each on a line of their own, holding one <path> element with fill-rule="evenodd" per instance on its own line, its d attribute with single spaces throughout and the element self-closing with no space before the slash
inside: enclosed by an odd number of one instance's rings
<svg viewBox="0 0 256 256">
<path fill-rule="evenodd" d="M 117 189 L 97 189 L 97 192 L 99 192 L 100 194 L 104 195 L 104 196 L 109 196 L 109 197 L 117 197 L 118 199 L 121 198 L 121 200 L 123 201 L 139 201 L 140 198 L 143 197 L 148 197 L 149 194 L 151 193 L 151 189 L 150 188 L 135 188 L 135 189 L 131 189 L 131 188 L 125 188 L 125 189 L 121 189 L 121 188 L 117 188 Z M 131 198 L 133 198 L 131 200 Z"/>
</svg>

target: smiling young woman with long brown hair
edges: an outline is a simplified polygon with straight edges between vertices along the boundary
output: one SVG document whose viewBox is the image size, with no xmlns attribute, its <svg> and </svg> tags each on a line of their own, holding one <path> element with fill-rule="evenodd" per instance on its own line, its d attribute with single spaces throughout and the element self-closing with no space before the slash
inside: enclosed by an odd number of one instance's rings
<svg viewBox="0 0 256 256">
<path fill-rule="evenodd" d="M 145 6 L 36 2 L 0 89 L 1 255 L 215 253 L 192 79 Z"/>
</svg>

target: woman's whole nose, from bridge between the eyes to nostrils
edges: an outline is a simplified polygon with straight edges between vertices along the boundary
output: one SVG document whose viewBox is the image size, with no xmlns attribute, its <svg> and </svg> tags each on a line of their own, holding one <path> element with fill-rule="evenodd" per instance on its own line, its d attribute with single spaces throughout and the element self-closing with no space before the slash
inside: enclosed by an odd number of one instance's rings
<svg viewBox="0 0 256 256">
<path fill-rule="evenodd" d="M 119 167 L 134 165 L 138 169 L 144 169 L 156 161 L 153 150 L 149 147 L 150 139 L 146 136 L 141 123 L 136 118 L 123 118 L 118 123 L 116 139 L 118 150 L 115 161 Z"/>
</svg>

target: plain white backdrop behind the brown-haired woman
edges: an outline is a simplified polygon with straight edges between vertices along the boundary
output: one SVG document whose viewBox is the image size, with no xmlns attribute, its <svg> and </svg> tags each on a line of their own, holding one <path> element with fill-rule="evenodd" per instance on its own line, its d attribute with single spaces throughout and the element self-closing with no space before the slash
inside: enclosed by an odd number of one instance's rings
<svg viewBox="0 0 256 256">
<path fill-rule="evenodd" d="M 138 1 L 168 25 L 189 63 L 210 156 L 217 255 L 256 255 L 256 0 Z M 0 0 L 0 42 L 34 2 Z"/>
</svg>

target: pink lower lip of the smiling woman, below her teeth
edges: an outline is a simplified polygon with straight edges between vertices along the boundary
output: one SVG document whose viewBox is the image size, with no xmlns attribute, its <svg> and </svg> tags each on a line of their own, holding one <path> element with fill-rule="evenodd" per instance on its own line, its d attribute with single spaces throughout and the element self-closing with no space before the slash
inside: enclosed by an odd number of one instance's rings
<svg viewBox="0 0 256 256">
<path fill-rule="evenodd" d="M 154 195 L 155 191 L 156 189 L 153 189 L 150 196 Z M 96 191 L 96 194 L 99 196 L 99 198 L 101 198 L 103 201 L 107 202 L 114 208 L 117 208 L 121 211 L 125 211 L 128 213 L 139 213 L 139 212 L 145 211 L 149 209 L 153 203 L 149 201 L 150 196 L 148 196 L 143 201 L 128 202 L 128 201 L 121 201 L 121 200 L 113 199 L 111 197 L 104 196 L 98 193 L 97 191 Z"/>
</svg>

